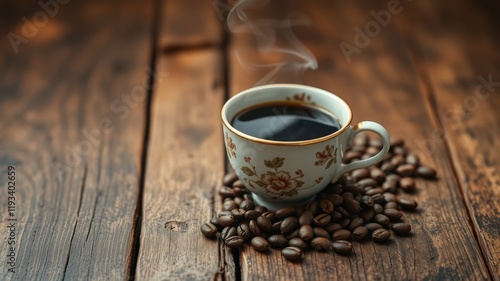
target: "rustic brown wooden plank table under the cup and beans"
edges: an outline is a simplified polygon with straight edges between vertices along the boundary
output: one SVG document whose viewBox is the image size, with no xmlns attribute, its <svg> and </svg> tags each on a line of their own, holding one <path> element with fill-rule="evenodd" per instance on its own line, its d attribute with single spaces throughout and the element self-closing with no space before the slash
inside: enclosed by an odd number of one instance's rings
<svg viewBox="0 0 500 281">
<path fill-rule="evenodd" d="M 225 28 L 236 1 L 46 2 L 0 8 L 2 280 L 500 280 L 497 1 L 273 1 L 239 23 L 263 36 Z M 221 106 L 272 82 L 337 93 L 437 169 L 412 236 L 290 263 L 201 235 Z"/>
</svg>

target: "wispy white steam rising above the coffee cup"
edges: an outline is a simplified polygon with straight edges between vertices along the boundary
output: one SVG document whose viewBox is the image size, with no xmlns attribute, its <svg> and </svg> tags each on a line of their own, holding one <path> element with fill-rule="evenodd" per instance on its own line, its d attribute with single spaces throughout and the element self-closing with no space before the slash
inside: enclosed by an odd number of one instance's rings
<svg viewBox="0 0 500 281">
<path fill-rule="evenodd" d="M 293 26 L 311 25 L 311 21 L 297 12 L 288 13 L 283 19 L 255 18 L 249 16 L 251 10 L 265 9 L 269 0 L 240 0 L 227 16 L 227 27 L 233 33 L 250 33 L 256 39 L 257 50 L 263 57 L 284 57 L 270 63 L 251 63 L 236 51 L 239 63 L 249 70 L 271 69 L 255 83 L 263 85 L 275 83 L 278 73 L 289 72 L 292 82 L 298 82 L 306 69 L 316 69 L 318 63 L 292 31 Z M 262 13 L 260 13 L 262 14 Z"/>
</svg>

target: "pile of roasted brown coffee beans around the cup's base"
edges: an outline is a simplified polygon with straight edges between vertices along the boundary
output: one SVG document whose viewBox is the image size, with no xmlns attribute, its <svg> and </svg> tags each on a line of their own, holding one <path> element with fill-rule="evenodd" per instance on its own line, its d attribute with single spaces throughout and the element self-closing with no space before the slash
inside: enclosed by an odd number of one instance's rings
<svg viewBox="0 0 500 281">
<path fill-rule="evenodd" d="M 343 161 L 366 159 L 381 148 L 379 139 L 359 134 Z M 436 171 L 408 152 L 403 140 L 392 139 L 389 153 L 378 165 L 342 176 L 305 206 L 269 211 L 256 206 L 250 192 L 230 172 L 219 190 L 223 210 L 204 223 L 201 232 L 209 238 L 220 237 L 229 248 L 249 243 L 258 252 L 281 249 L 291 261 L 301 260 L 304 251 L 311 249 L 349 255 L 353 240 L 384 243 L 392 234 L 411 232 L 402 211 L 418 207 L 409 197 L 416 189 L 415 177 L 435 179 Z"/>
</svg>

